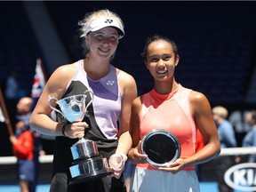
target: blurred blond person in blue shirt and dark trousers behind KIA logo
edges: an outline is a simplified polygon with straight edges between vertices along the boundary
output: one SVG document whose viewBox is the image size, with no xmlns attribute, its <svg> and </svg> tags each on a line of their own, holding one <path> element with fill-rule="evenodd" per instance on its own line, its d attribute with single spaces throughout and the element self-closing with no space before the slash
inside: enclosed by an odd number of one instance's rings
<svg viewBox="0 0 256 192">
<path fill-rule="evenodd" d="M 220 146 L 221 148 L 235 148 L 236 145 L 236 136 L 235 131 L 227 120 L 228 110 L 221 106 L 212 108 L 213 118 L 215 124 L 217 125 L 219 137 L 220 137 Z M 218 188 L 220 192 L 233 192 L 233 188 L 229 188 L 224 180 L 224 173 L 228 170 L 229 167 L 235 164 L 236 158 L 234 156 L 217 156 L 213 161 L 216 163 L 216 176 L 218 181 Z"/>
</svg>

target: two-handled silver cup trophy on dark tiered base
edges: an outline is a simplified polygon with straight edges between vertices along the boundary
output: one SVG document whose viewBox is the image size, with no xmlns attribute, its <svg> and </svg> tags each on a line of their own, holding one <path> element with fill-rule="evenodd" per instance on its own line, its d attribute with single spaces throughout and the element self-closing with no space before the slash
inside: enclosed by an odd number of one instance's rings
<svg viewBox="0 0 256 192">
<path fill-rule="evenodd" d="M 91 95 L 91 100 L 86 106 L 87 92 Z M 49 96 L 48 103 L 50 108 L 73 123 L 82 121 L 84 116 L 87 116 L 87 108 L 92 104 L 93 97 L 93 92 L 86 90 L 84 94 L 72 95 L 61 100 Z M 52 100 L 60 106 L 60 110 L 52 107 Z M 109 171 L 107 158 L 99 155 L 95 141 L 80 138 L 70 149 L 73 156 L 72 165 L 69 167 L 72 177 L 69 181 L 70 185 L 102 178 L 112 173 Z"/>
</svg>

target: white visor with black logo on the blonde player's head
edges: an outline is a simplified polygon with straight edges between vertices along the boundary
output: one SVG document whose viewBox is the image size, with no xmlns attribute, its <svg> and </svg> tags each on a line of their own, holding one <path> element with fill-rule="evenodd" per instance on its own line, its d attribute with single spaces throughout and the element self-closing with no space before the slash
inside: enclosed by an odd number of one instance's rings
<svg viewBox="0 0 256 192">
<path fill-rule="evenodd" d="M 119 34 L 119 39 L 124 36 L 124 26 L 121 23 L 117 22 L 116 20 L 107 19 L 107 18 L 100 18 L 97 20 L 93 20 L 91 25 L 86 29 L 85 35 L 87 36 L 88 33 L 91 31 L 97 31 L 97 30 L 100 30 L 101 28 L 106 28 L 106 27 L 116 28 Z"/>
</svg>

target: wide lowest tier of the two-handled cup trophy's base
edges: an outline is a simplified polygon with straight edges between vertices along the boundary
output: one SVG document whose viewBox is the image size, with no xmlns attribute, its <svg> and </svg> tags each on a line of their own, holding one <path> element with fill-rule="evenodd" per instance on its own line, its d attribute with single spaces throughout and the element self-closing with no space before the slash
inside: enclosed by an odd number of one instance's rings
<svg viewBox="0 0 256 192">
<path fill-rule="evenodd" d="M 83 183 L 87 180 L 97 180 L 112 174 L 109 171 L 108 160 L 101 156 L 75 161 L 69 170 L 72 177 L 69 185 Z"/>
</svg>

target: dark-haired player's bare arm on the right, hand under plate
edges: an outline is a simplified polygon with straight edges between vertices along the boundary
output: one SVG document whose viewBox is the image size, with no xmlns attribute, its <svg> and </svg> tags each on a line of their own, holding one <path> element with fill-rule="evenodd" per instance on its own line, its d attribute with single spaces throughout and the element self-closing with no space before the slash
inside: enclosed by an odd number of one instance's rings
<svg viewBox="0 0 256 192">
<path fill-rule="evenodd" d="M 192 92 L 190 94 L 190 104 L 196 126 L 204 138 L 204 148 L 197 151 L 194 156 L 189 156 L 186 159 L 179 158 L 168 167 L 160 168 L 161 170 L 178 172 L 188 165 L 205 163 L 220 154 L 220 139 L 213 121 L 209 101 L 204 94 Z"/>
</svg>

